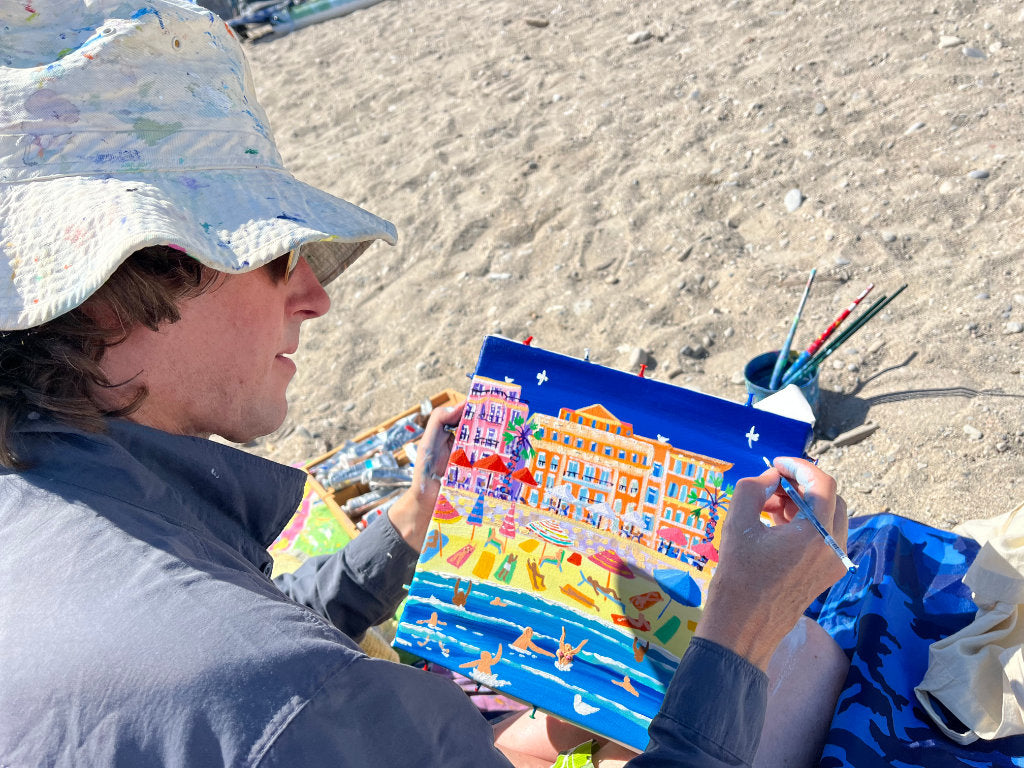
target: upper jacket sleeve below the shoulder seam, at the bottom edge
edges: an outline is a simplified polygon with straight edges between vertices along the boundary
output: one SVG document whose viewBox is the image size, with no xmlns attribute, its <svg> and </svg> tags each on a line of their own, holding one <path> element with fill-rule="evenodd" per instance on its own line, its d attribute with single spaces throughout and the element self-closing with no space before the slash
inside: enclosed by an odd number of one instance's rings
<svg viewBox="0 0 1024 768">
<path fill-rule="evenodd" d="M 254 766 L 512 768 L 459 686 L 366 656 L 329 677 Z"/>
</svg>

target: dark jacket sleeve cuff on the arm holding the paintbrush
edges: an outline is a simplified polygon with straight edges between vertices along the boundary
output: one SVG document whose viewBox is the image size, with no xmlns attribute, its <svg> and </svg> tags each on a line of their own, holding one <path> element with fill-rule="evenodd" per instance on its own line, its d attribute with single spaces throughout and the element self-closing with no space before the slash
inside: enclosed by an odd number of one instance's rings
<svg viewBox="0 0 1024 768">
<path fill-rule="evenodd" d="M 768 676 L 742 656 L 693 638 L 629 768 L 724 768 L 754 761 L 768 701 Z"/>
</svg>

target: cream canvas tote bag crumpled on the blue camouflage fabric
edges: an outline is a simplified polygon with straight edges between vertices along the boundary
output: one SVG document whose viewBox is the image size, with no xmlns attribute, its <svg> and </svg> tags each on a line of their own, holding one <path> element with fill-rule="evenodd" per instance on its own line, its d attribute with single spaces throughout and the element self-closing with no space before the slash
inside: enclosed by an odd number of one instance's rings
<svg viewBox="0 0 1024 768">
<path fill-rule="evenodd" d="M 943 733 L 962 744 L 1024 733 L 1024 504 L 955 532 L 982 545 L 964 577 L 978 613 L 933 643 L 918 700 Z M 934 700 L 967 730 L 953 730 Z"/>
</svg>

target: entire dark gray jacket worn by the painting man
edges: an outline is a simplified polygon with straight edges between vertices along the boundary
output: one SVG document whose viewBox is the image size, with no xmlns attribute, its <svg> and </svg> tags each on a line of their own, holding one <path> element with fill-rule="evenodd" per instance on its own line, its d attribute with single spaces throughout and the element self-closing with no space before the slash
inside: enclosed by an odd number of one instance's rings
<svg viewBox="0 0 1024 768">
<path fill-rule="evenodd" d="M 275 586 L 266 547 L 301 471 L 125 421 L 37 421 L 18 441 L 30 470 L 0 473 L 0 766 L 509 765 L 458 686 L 350 639 L 415 565 L 386 519 Z M 748 762 L 764 676 L 710 643 L 683 667 L 636 766 Z M 711 686 L 729 692 L 702 702 Z"/>
</svg>

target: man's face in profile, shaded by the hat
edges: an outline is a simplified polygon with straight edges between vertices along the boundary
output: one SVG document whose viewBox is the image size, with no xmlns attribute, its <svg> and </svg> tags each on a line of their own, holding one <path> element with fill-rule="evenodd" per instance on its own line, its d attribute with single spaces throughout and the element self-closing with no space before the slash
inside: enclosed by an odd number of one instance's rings
<svg viewBox="0 0 1024 768">
<path fill-rule="evenodd" d="M 298 347 L 299 326 L 331 306 L 305 259 L 287 281 L 282 259 L 221 278 L 181 303 L 177 323 L 158 332 L 136 328 L 123 344 L 105 350 L 100 367 L 109 381 L 128 382 L 114 390 L 115 397 L 139 384 L 148 390 L 129 419 L 174 434 L 218 434 L 236 442 L 281 426 L 288 414 L 285 391 L 295 375 L 286 355 Z"/>
</svg>

